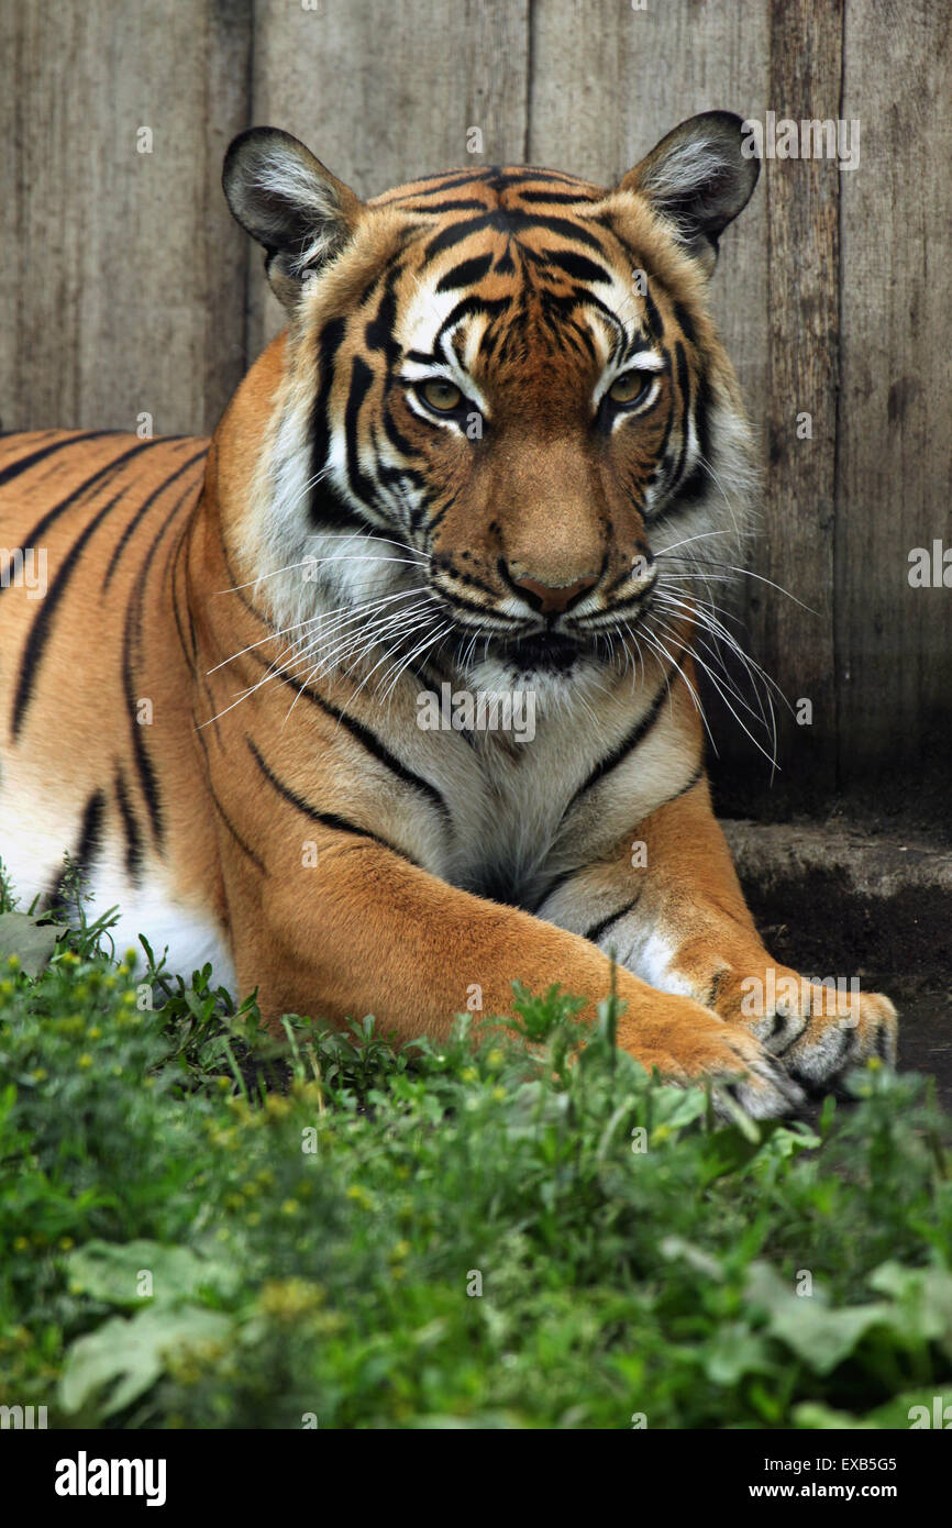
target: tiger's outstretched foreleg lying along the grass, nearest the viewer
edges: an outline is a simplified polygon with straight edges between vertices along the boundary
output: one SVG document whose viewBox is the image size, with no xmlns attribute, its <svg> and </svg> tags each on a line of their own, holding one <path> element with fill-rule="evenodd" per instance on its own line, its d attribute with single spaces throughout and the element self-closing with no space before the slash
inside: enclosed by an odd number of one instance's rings
<svg viewBox="0 0 952 1528">
<path fill-rule="evenodd" d="M 226 866 L 238 981 L 258 984 L 272 1025 L 287 1012 L 335 1024 L 373 1013 L 400 1042 L 443 1041 L 474 984 L 484 1013 L 510 1016 L 513 979 L 536 993 L 561 983 L 587 999 L 579 1018 L 588 1022 L 610 990 L 610 963 L 591 943 L 449 886 L 374 842 L 329 834 L 304 885 L 264 859 L 255 891 L 248 866 L 238 869 L 232 877 Z M 627 970 L 616 976 L 619 1045 L 646 1068 L 737 1079 L 738 1100 L 761 1117 L 799 1103 L 749 1030 Z"/>
</svg>

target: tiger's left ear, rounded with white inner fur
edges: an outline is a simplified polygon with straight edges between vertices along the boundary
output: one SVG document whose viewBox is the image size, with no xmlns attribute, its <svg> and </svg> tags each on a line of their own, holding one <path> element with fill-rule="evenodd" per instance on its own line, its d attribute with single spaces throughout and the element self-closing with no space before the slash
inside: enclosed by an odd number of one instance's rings
<svg viewBox="0 0 952 1528">
<path fill-rule="evenodd" d="M 287 309 L 361 217 L 362 203 L 350 186 L 278 127 L 252 127 L 232 139 L 222 186 L 237 222 L 267 251 L 267 280 Z"/>
</svg>

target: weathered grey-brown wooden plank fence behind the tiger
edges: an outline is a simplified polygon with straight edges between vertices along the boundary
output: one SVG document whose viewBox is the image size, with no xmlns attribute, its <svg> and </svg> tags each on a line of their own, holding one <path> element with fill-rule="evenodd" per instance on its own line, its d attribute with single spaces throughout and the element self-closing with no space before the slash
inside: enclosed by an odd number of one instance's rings
<svg viewBox="0 0 952 1528">
<path fill-rule="evenodd" d="M 811 611 L 750 581 L 747 645 L 813 706 L 810 726 L 785 730 L 781 795 L 805 779 L 819 801 L 871 773 L 947 764 L 952 588 L 909 582 L 914 547 L 952 549 L 947 0 L 0 0 L 0 12 L 5 429 L 134 428 L 144 411 L 156 432 L 214 428 L 280 324 L 219 183 L 249 124 L 295 133 L 368 196 L 474 159 L 610 183 L 711 107 L 857 121 L 857 168 L 764 162 L 714 277 L 763 440 L 752 567 Z M 483 154 L 468 154 L 471 127 Z"/>
</svg>

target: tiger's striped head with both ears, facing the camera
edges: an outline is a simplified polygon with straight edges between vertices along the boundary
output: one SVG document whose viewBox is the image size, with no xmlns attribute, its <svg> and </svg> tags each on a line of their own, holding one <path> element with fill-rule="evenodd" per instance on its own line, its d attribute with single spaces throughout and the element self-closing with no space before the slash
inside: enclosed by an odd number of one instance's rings
<svg viewBox="0 0 952 1528">
<path fill-rule="evenodd" d="M 237 138 L 289 325 L 264 413 L 252 370 L 220 426 L 251 463 L 226 532 L 278 630 L 497 691 L 666 651 L 747 518 L 706 289 L 758 170 L 706 112 L 608 191 L 477 165 L 362 203 L 287 133 Z"/>
</svg>

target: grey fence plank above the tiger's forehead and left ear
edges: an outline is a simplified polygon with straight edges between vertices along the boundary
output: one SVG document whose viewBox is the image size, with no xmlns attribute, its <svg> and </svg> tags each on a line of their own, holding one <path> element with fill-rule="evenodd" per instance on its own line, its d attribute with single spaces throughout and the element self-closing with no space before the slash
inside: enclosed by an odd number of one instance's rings
<svg viewBox="0 0 952 1528">
<path fill-rule="evenodd" d="M 255 8 L 254 121 L 283 127 L 359 196 L 526 157 L 529 0 L 315 0 Z M 469 153 L 480 128 L 483 153 Z M 284 322 L 252 255 L 249 348 Z"/>
</svg>

